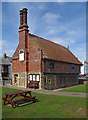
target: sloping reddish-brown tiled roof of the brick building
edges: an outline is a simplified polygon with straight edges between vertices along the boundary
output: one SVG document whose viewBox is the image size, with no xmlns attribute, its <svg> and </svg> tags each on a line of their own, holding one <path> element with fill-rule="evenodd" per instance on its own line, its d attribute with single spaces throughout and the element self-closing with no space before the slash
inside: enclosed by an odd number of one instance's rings
<svg viewBox="0 0 88 120">
<path fill-rule="evenodd" d="M 43 51 L 44 58 L 82 65 L 69 49 L 32 34 L 29 34 L 29 37 Z M 13 59 L 18 58 L 18 53 L 19 45 L 13 55 Z"/>
</svg>

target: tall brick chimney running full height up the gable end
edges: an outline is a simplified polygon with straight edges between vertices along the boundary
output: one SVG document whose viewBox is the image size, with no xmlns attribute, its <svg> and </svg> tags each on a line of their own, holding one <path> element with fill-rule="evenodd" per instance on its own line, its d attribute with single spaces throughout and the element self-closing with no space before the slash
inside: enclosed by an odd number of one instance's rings
<svg viewBox="0 0 88 120">
<path fill-rule="evenodd" d="M 19 66 L 22 70 L 19 70 L 19 77 L 24 76 L 25 87 L 28 80 L 28 38 L 29 30 L 27 25 L 27 9 L 20 10 L 20 27 L 19 27 Z M 21 79 L 22 80 L 22 79 Z"/>
</svg>

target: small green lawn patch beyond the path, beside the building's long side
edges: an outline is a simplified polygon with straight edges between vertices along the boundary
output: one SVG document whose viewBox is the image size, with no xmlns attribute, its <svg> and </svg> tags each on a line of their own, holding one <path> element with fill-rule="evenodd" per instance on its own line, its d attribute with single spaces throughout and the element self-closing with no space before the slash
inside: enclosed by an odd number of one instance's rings
<svg viewBox="0 0 88 120">
<path fill-rule="evenodd" d="M 82 93 L 88 93 L 88 84 L 80 84 L 80 85 L 76 85 L 76 86 L 72 86 L 72 87 L 68 87 L 68 88 L 64 88 L 61 91 L 64 92 L 82 92 Z"/>
</svg>

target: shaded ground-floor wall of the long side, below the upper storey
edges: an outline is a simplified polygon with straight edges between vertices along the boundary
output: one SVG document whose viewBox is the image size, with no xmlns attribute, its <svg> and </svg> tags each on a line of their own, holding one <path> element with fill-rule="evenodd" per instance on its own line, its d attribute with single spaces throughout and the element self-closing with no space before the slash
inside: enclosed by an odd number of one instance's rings
<svg viewBox="0 0 88 120">
<path fill-rule="evenodd" d="M 63 79 L 64 77 L 64 79 Z M 49 74 L 49 75 L 45 75 L 45 81 L 44 81 L 44 88 L 45 89 L 59 89 L 62 87 L 69 87 L 72 85 L 76 85 L 79 84 L 78 81 L 78 74 L 77 75 L 64 75 L 64 74 L 60 74 L 60 75 L 54 75 L 54 74 Z M 61 82 L 62 80 L 64 80 L 63 82 Z"/>
</svg>

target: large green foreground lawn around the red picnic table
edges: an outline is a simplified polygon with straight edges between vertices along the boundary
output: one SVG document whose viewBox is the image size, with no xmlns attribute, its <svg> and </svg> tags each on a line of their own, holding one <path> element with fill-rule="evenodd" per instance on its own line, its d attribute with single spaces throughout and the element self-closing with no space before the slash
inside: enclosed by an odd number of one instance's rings
<svg viewBox="0 0 88 120">
<path fill-rule="evenodd" d="M 18 91 L 3 87 L 2 94 Z M 86 118 L 86 99 L 32 93 L 38 101 L 26 106 L 12 108 L 2 105 L 3 118 Z"/>
</svg>

